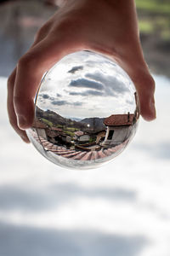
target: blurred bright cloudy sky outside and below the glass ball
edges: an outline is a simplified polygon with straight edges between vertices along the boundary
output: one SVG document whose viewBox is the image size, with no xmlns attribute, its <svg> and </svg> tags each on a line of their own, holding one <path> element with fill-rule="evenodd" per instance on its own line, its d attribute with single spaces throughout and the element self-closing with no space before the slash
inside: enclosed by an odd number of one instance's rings
<svg viewBox="0 0 170 256">
<path fill-rule="evenodd" d="M 0 80 L 0 255 L 170 255 L 170 80 L 155 76 L 157 119 L 98 169 L 66 170 L 8 124 Z"/>
</svg>

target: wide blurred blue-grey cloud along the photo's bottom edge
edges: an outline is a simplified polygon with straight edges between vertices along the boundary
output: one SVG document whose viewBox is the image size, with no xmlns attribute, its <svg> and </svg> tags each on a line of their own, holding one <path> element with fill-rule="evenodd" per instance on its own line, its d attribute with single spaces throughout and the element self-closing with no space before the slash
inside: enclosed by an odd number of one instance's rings
<svg viewBox="0 0 170 256">
<path fill-rule="evenodd" d="M 104 256 L 106 251 L 108 256 L 135 256 L 150 245 L 150 241 L 140 235 L 127 236 L 88 229 L 42 229 L 2 221 L 0 236 L 2 255 L 14 256 Z"/>
</svg>

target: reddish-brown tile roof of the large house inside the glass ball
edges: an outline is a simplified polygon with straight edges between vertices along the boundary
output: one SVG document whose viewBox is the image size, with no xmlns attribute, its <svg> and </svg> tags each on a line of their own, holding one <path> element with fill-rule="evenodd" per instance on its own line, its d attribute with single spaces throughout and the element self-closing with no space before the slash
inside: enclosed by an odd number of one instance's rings
<svg viewBox="0 0 170 256">
<path fill-rule="evenodd" d="M 106 126 L 121 126 L 121 125 L 132 125 L 133 124 L 133 113 L 126 114 L 112 114 L 106 118 L 104 125 Z"/>
</svg>

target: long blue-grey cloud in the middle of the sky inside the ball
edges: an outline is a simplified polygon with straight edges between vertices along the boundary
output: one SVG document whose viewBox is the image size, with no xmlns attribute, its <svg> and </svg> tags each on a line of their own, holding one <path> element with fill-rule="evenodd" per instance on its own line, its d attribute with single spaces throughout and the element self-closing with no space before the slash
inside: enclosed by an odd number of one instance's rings
<svg viewBox="0 0 170 256">
<path fill-rule="evenodd" d="M 95 90 L 103 90 L 104 86 L 103 84 L 88 80 L 88 79 L 77 79 L 77 80 L 71 80 L 71 83 L 69 84 L 71 87 L 78 87 L 78 88 L 90 88 Z"/>
</svg>

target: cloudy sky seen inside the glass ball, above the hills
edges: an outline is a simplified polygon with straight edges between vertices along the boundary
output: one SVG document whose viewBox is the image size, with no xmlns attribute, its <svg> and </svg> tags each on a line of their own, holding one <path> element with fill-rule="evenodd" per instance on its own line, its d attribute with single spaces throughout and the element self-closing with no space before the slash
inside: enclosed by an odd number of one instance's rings
<svg viewBox="0 0 170 256">
<path fill-rule="evenodd" d="M 42 80 L 37 106 L 66 118 L 134 113 L 133 82 L 108 58 L 79 51 L 65 56 Z"/>
</svg>

